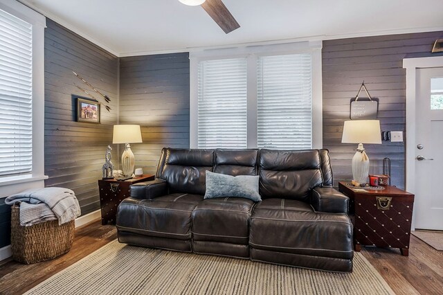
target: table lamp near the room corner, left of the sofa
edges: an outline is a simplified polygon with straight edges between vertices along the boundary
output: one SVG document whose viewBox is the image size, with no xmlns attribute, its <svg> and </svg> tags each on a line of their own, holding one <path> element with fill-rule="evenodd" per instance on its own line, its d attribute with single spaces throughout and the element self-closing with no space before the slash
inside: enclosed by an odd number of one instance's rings
<svg viewBox="0 0 443 295">
<path fill-rule="evenodd" d="M 140 125 L 114 125 L 112 143 L 125 143 L 125 151 L 122 154 L 123 175 L 129 177 L 134 172 L 134 153 L 129 143 L 141 143 Z"/>
</svg>

